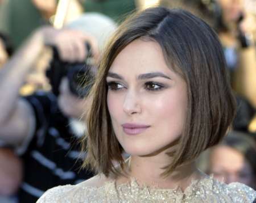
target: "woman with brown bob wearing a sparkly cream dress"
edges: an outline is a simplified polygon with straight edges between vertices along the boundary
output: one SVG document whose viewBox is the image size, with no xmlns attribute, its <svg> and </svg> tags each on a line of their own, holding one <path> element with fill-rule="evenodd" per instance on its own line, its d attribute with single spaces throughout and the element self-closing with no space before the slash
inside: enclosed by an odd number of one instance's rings
<svg viewBox="0 0 256 203">
<path fill-rule="evenodd" d="M 235 110 L 212 29 L 187 11 L 156 7 L 127 19 L 107 47 L 92 88 L 85 160 L 98 175 L 38 202 L 252 202 L 253 189 L 195 167 Z"/>
</svg>

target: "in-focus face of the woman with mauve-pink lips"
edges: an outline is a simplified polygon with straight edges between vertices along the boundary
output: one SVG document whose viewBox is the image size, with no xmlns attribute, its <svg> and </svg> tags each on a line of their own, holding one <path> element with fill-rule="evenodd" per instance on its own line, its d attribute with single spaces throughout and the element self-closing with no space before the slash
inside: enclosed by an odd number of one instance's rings
<svg viewBox="0 0 256 203">
<path fill-rule="evenodd" d="M 137 39 L 127 45 L 106 81 L 113 129 L 126 153 L 159 153 L 181 136 L 187 86 L 167 66 L 158 43 Z"/>
</svg>

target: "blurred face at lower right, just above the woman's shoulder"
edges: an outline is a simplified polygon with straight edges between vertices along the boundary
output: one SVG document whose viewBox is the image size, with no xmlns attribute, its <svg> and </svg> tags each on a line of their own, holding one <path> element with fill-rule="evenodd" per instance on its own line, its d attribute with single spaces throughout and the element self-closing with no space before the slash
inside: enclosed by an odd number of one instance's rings
<svg viewBox="0 0 256 203">
<path fill-rule="evenodd" d="M 209 174 L 225 183 L 240 182 L 253 187 L 253 169 L 243 154 L 228 146 L 216 146 L 210 154 Z"/>
</svg>

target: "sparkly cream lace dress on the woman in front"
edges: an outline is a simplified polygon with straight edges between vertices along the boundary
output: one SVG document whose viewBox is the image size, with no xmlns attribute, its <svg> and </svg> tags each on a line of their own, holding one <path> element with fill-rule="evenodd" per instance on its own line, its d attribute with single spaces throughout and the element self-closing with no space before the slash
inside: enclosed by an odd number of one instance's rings
<svg viewBox="0 0 256 203">
<path fill-rule="evenodd" d="M 181 189 L 159 189 L 138 185 L 135 179 L 117 185 L 106 182 L 101 187 L 86 187 L 84 183 L 49 189 L 38 203 L 103 203 L 103 202 L 253 202 L 256 192 L 241 183 L 226 185 L 213 177 L 192 181 L 184 192 Z"/>
</svg>

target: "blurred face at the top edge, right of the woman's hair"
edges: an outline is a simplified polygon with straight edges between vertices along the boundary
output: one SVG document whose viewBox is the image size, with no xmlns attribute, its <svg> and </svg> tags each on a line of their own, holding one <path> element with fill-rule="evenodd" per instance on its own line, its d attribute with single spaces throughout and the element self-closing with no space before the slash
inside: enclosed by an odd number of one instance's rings
<svg viewBox="0 0 256 203">
<path fill-rule="evenodd" d="M 243 0 L 217 0 L 225 23 L 236 23 L 243 12 Z"/>
</svg>

